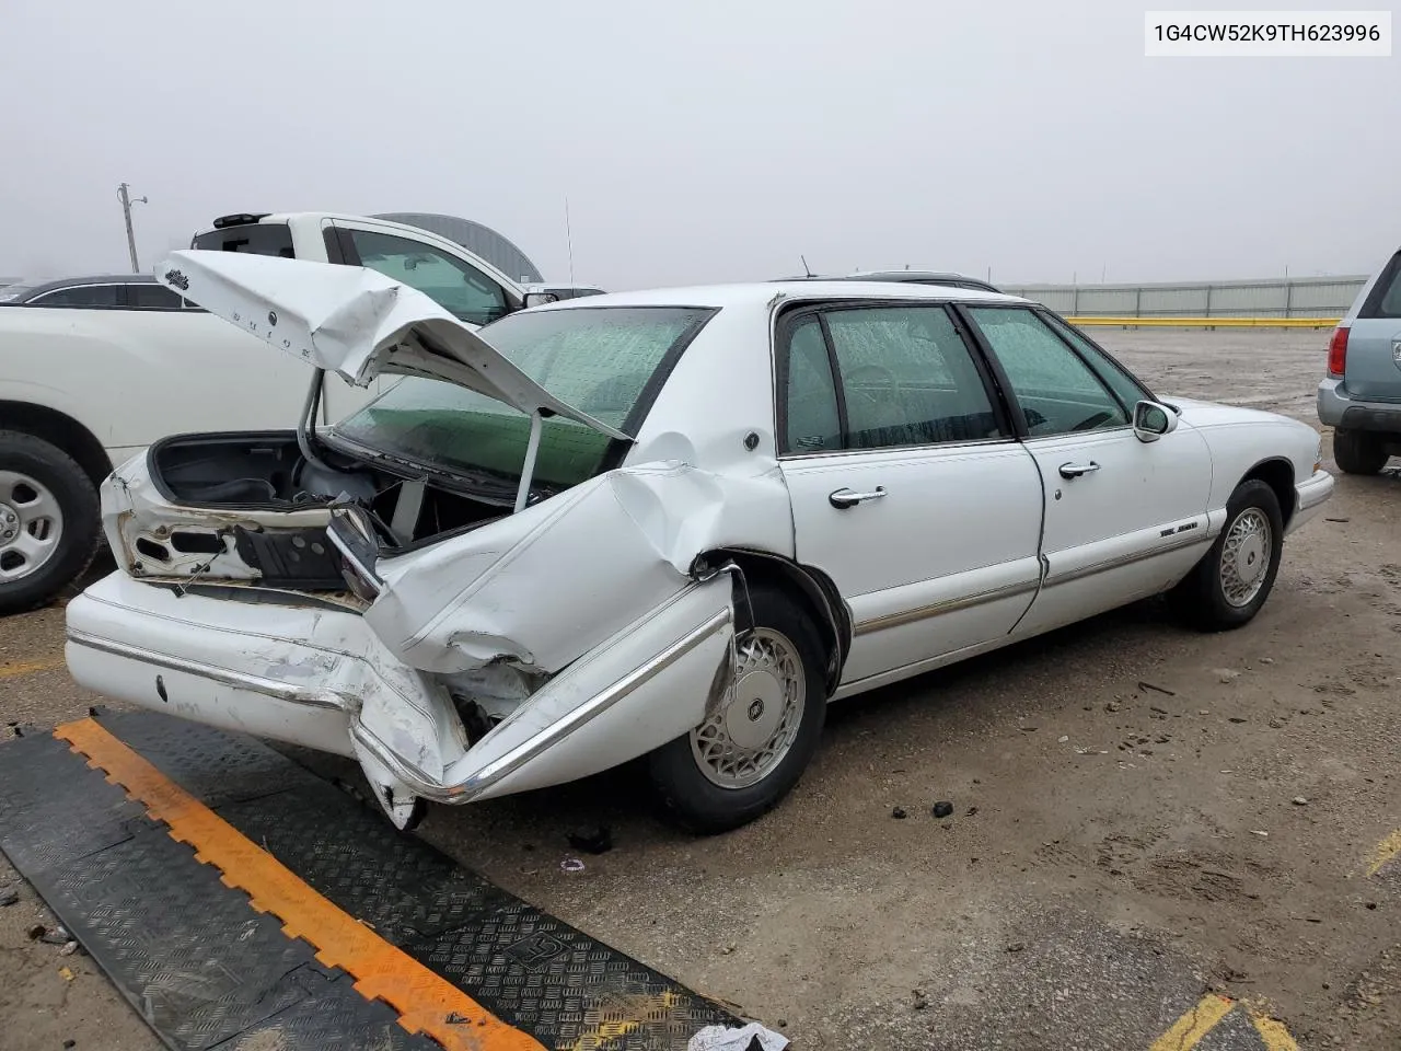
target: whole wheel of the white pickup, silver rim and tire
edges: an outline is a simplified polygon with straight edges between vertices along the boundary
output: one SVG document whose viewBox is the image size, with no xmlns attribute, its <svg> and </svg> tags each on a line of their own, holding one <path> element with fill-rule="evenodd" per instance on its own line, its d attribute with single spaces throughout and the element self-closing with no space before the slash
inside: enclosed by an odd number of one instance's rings
<svg viewBox="0 0 1401 1051">
<path fill-rule="evenodd" d="M 0 615 L 34 610 L 92 562 L 101 535 L 97 488 L 64 453 L 0 430 Z"/>
</svg>

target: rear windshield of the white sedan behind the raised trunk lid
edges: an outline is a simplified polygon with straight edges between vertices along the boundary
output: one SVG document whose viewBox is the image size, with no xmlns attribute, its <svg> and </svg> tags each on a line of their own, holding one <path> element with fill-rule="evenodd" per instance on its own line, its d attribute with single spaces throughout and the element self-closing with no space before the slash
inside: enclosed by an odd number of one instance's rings
<svg viewBox="0 0 1401 1051">
<path fill-rule="evenodd" d="M 635 436 L 681 350 L 713 312 L 702 307 L 521 311 L 481 335 L 560 401 Z M 465 387 L 406 377 L 333 433 L 429 467 L 514 479 L 525 460 L 530 416 Z M 609 443 L 583 423 L 546 418 L 534 481 L 565 488 L 593 478 L 607 467 Z"/>
</svg>

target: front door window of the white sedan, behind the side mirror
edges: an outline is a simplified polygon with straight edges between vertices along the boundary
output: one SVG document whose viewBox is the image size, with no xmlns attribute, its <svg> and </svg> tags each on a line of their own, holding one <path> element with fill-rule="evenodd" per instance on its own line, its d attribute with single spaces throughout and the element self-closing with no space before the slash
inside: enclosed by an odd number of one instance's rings
<svg viewBox="0 0 1401 1051">
<path fill-rule="evenodd" d="M 969 307 L 1027 418 L 1031 437 L 1128 426 L 1094 371 L 1027 307 Z"/>
</svg>

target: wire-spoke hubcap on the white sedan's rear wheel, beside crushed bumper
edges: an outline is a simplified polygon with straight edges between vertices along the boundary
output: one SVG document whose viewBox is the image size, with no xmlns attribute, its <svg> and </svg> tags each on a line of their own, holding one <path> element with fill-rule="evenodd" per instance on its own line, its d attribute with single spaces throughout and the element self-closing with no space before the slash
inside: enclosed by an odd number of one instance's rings
<svg viewBox="0 0 1401 1051">
<path fill-rule="evenodd" d="M 807 681 L 787 636 L 757 628 L 740 643 L 726 705 L 691 731 L 706 779 L 727 789 L 757 785 L 783 761 L 803 722 Z"/>
</svg>

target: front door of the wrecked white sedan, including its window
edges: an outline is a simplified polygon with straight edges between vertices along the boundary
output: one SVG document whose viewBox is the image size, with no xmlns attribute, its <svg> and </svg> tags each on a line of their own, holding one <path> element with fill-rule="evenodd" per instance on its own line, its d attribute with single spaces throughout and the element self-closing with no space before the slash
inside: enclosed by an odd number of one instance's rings
<svg viewBox="0 0 1401 1051">
<path fill-rule="evenodd" d="M 1210 541 L 1212 461 L 1187 425 L 1156 441 L 1131 426 L 1149 398 L 1098 348 L 1028 307 L 968 307 L 1026 416 L 1045 489 L 1045 580 L 1020 633 L 1166 590 Z"/>
</svg>

